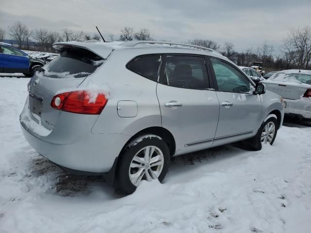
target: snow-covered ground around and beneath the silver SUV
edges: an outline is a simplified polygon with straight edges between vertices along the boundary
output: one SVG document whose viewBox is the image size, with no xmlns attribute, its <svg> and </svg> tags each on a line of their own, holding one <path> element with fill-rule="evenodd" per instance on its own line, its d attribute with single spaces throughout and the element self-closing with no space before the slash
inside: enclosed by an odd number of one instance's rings
<svg viewBox="0 0 311 233">
<path fill-rule="evenodd" d="M 310 232 L 310 127 L 283 126 L 258 152 L 228 145 L 177 157 L 163 184 L 123 197 L 28 145 L 18 121 L 27 82 L 0 78 L 0 233 Z"/>
</svg>

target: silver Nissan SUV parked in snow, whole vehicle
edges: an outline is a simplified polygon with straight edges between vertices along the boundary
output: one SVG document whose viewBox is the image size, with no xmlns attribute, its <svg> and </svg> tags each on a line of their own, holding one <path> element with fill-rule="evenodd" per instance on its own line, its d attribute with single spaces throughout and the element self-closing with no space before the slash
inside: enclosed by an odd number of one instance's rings
<svg viewBox="0 0 311 233">
<path fill-rule="evenodd" d="M 279 95 L 214 50 L 151 41 L 61 42 L 36 71 L 20 115 L 35 150 L 64 170 L 133 193 L 173 156 L 236 141 L 273 144 Z"/>
</svg>

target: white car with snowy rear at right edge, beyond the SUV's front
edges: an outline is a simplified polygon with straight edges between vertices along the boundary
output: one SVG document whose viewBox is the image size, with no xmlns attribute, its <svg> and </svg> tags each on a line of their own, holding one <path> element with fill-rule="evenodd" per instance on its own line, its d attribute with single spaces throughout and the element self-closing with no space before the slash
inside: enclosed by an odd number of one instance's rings
<svg viewBox="0 0 311 233">
<path fill-rule="evenodd" d="M 282 70 L 263 83 L 286 101 L 285 114 L 311 119 L 311 70 Z"/>
</svg>

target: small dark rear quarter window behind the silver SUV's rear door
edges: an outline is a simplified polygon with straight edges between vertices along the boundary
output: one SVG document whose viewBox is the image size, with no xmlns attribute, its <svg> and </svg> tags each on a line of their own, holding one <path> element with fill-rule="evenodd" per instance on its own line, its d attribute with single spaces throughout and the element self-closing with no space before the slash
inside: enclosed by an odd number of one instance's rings
<svg viewBox="0 0 311 233">
<path fill-rule="evenodd" d="M 157 81 L 161 64 L 160 55 L 143 55 L 130 61 L 126 68 L 147 79 Z"/>
</svg>

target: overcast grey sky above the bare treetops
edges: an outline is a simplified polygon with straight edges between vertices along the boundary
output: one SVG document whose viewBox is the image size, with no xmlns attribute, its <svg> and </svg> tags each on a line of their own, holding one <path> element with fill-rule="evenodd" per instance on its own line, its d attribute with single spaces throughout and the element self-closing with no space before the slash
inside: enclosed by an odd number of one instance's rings
<svg viewBox="0 0 311 233">
<path fill-rule="evenodd" d="M 0 0 L 0 6 L 6 32 L 17 20 L 58 32 L 95 33 L 97 25 L 105 37 L 119 37 L 127 26 L 147 28 L 157 40 L 228 41 L 238 51 L 263 41 L 277 50 L 291 27 L 311 24 L 311 0 Z"/>
</svg>

